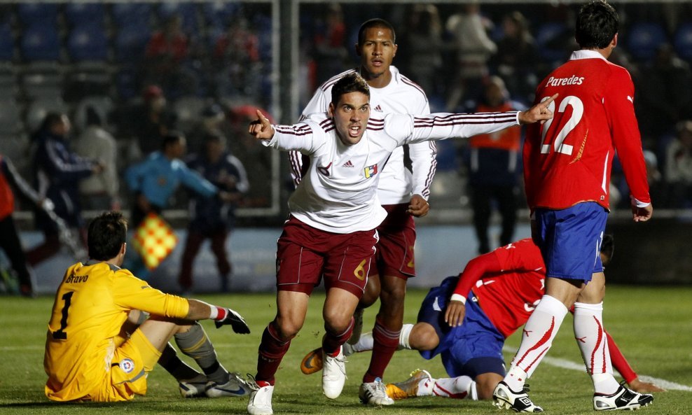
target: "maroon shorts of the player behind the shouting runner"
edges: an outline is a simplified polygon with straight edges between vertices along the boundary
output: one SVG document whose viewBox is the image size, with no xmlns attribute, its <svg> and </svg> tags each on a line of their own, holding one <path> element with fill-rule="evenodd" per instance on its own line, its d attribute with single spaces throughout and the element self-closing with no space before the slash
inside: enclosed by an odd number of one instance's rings
<svg viewBox="0 0 692 415">
<path fill-rule="evenodd" d="M 371 275 L 380 274 L 409 279 L 415 276 L 415 223 L 406 212 L 408 203 L 382 205 L 387 218 L 378 226 L 380 241 Z"/>
</svg>

